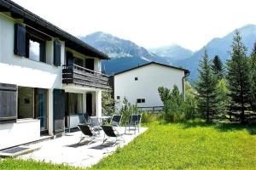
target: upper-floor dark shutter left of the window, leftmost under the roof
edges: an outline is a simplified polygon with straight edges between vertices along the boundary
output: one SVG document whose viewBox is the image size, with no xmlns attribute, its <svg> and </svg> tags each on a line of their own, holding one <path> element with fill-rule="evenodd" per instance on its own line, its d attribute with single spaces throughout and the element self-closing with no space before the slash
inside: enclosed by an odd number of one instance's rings
<svg viewBox="0 0 256 170">
<path fill-rule="evenodd" d="M 15 54 L 26 56 L 26 27 L 15 24 Z"/>
</svg>

